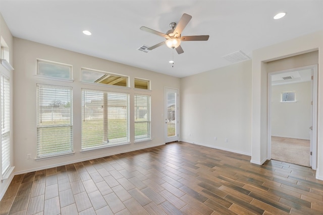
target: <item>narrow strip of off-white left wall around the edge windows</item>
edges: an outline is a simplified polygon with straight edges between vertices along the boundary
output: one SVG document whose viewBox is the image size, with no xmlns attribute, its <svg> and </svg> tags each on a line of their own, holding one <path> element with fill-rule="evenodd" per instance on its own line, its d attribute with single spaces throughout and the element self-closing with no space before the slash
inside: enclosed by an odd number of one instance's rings
<svg viewBox="0 0 323 215">
<path fill-rule="evenodd" d="M 6 44 L 8 45 L 9 48 L 9 62 L 11 65 L 13 65 L 13 36 L 11 35 L 9 28 L 4 20 L 4 18 L 2 17 L 2 15 L 0 14 L 0 36 L 1 38 L 6 42 Z M 13 73 L 10 74 L 10 97 L 11 97 L 11 104 L 10 104 L 10 139 L 11 139 L 11 148 L 10 148 L 10 152 L 11 152 L 11 156 L 10 156 L 10 164 L 13 167 L 14 166 L 14 124 L 12 122 L 13 119 Z M 1 165 L 2 166 L 2 165 Z M 1 168 L 0 168 L 1 169 Z M 0 171 L 1 174 L 2 171 Z M 3 197 L 3 195 L 5 194 L 12 178 L 14 177 L 14 173 L 10 174 L 9 178 L 4 180 L 3 182 L 0 183 L 0 199 Z"/>
</svg>

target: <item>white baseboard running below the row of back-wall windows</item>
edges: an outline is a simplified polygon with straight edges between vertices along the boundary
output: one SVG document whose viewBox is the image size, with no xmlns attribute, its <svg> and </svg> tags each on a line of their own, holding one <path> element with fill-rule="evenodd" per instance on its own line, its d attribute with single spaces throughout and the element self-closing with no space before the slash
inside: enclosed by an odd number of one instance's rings
<svg viewBox="0 0 323 215">
<path fill-rule="evenodd" d="M 65 162 L 65 163 L 59 163 L 59 164 L 53 164 L 53 165 L 49 165 L 49 166 L 43 166 L 43 167 L 39 167 L 39 168 L 35 168 L 35 169 L 29 169 L 29 170 L 15 172 L 14 175 L 20 175 L 20 174 L 25 174 L 25 173 L 30 173 L 30 172 L 35 172 L 35 171 L 55 168 L 55 167 L 60 167 L 60 166 L 68 165 L 68 164 L 74 164 L 74 163 L 78 163 L 78 162 L 89 161 L 89 160 L 103 158 L 103 157 L 107 157 L 107 156 L 113 156 L 113 155 L 118 155 L 118 154 L 122 154 L 122 153 L 133 152 L 133 151 L 142 150 L 142 149 L 148 149 L 148 148 L 151 148 L 151 147 L 158 147 L 158 146 L 161 146 L 161 145 L 165 145 L 165 144 L 139 147 L 139 148 L 136 148 L 136 149 L 123 150 L 123 151 L 116 152 L 116 153 L 106 154 L 104 156 L 100 155 L 100 156 L 94 156 L 94 157 L 90 157 L 90 158 L 84 158 L 84 159 L 69 161 L 69 162 Z"/>
</svg>

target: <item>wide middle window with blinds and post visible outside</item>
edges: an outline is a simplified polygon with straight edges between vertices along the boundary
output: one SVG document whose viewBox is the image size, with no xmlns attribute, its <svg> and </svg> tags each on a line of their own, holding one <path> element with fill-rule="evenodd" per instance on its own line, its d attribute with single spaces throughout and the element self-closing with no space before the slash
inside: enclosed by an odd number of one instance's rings
<svg viewBox="0 0 323 215">
<path fill-rule="evenodd" d="M 129 142 L 129 95 L 82 90 L 82 149 Z"/>
</svg>

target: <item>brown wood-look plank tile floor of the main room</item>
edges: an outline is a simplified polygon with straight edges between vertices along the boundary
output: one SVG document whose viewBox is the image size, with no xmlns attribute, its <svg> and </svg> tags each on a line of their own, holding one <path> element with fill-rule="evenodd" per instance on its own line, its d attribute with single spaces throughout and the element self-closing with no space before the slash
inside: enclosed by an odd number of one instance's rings
<svg viewBox="0 0 323 215">
<path fill-rule="evenodd" d="M 323 214 L 314 175 L 174 142 L 16 175 L 0 214 Z"/>
</svg>

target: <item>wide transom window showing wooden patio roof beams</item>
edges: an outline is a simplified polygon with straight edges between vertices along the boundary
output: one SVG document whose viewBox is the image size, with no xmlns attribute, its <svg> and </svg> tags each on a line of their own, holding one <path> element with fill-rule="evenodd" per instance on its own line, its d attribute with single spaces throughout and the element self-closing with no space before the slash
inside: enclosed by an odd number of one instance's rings
<svg viewBox="0 0 323 215">
<path fill-rule="evenodd" d="M 105 71 L 82 69 L 82 81 L 88 83 L 128 87 L 128 77 Z"/>
</svg>

